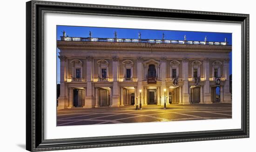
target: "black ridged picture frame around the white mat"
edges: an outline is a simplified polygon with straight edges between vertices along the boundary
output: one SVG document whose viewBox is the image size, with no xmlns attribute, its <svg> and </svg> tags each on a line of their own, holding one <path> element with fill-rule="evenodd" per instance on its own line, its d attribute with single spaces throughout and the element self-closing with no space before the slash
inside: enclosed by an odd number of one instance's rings
<svg viewBox="0 0 256 152">
<path fill-rule="evenodd" d="M 52 1 L 28 1 L 26 11 L 26 149 L 49 151 L 107 146 L 172 143 L 199 140 L 249 138 L 249 14 L 199 12 L 159 8 L 107 6 Z M 207 130 L 180 133 L 134 134 L 75 139 L 44 139 L 43 111 L 43 16 L 45 12 L 180 19 L 239 23 L 242 27 L 241 129 Z"/>
</svg>

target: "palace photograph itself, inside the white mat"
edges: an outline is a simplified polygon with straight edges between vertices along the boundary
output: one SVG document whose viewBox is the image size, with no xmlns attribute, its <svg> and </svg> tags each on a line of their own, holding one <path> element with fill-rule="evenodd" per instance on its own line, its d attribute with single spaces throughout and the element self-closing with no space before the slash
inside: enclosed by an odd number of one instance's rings
<svg viewBox="0 0 256 152">
<path fill-rule="evenodd" d="M 232 33 L 56 25 L 56 38 L 57 126 L 232 119 Z"/>
</svg>

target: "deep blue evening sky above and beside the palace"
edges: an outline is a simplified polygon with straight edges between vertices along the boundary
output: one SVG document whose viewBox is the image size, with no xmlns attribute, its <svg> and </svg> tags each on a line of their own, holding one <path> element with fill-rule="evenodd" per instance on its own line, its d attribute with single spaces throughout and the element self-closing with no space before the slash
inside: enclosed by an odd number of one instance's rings
<svg viewBox="0 0 256 152">
<path fill-rule="evenodd" d="M 232 33 L 221 32 L 191 32 L 191 31 L 169 31 L 169 30 L 148 30 L 148 29 L 125 29 L 125 28 L 106 28 L 106 27 L 82 27 L 82 26 L 63 26 L 57 25 L 57 40 L 61 40 L 62 31 L 66 31 L 68 37 L 89 37 L 89 31 L 93 38 L 114 38 L 114 32 L 117 32 L 117 38 L 138 38 L 141 32 L 141 39 L 164 39 L 224 42 L 227 38 L 229 45 L 232 45 Z M 60 83 L 60 59 L 58 58 L 60 50 L 57 49 L 57 83 Z M 229 72 L 232 74 L 232 54 L 230 52 Z"/>
</svg>

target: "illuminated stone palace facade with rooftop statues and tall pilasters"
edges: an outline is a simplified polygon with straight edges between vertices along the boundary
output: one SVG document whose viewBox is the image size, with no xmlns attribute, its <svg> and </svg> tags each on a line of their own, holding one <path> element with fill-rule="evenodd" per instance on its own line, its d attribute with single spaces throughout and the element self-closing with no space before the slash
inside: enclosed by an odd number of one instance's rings
<svg viewBox="0 0 256 152">
<path fill-rule="evenodd" d="M 60 49 L 58 109 L 231 103 L 228 42 L 74 38 Z M 216 88 L 219 87 L 219 94 Z"/>
</svg>

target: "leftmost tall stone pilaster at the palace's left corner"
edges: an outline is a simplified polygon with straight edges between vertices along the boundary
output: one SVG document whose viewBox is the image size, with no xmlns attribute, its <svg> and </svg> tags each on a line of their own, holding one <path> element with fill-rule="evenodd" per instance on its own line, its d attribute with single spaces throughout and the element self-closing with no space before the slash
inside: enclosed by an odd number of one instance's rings
<svg viewBox="0 0 256 152">
<path fill-rule="evenodd" d="M 59 56 L 61 60 L 61 87 L 60 87 L 60 96 L 58 98 L 58 107 L 57 109 L 64 109 L 68 107 L 68 99 L 67 99 L 67 86 L 65 84 L 66 81 L 66 61 L 67 57 L 65 56 Z"/>
</svg>

